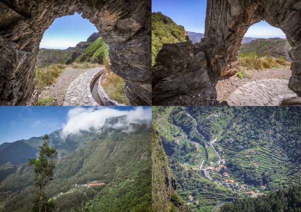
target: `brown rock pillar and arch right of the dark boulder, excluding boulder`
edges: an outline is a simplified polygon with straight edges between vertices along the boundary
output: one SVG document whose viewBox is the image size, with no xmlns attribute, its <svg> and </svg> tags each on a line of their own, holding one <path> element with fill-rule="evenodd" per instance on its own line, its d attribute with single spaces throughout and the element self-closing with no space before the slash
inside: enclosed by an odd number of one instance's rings
<svg viewBox="0 0 301 212">
<path fill-rule="evenodd" d="M 288 87 L 301 96 L 301 2 L 298 0 L 208 0 L 205 26 L 211 78 L 237 71 L 238 50 L 248 28 L 265 20 L 280 28 L 292 46 Z M 213 73 L 213 74 L 212 74 Z"/>
</svg>

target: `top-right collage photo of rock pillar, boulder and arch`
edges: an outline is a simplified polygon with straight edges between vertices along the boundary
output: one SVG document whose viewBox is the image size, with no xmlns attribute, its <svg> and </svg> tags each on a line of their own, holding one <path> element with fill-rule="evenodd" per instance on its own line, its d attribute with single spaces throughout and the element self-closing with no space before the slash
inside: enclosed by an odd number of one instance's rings
<svg viewBox="0 0 301 212">
<path fill-rule="evenodd" d="M 153 105 L 300 105 L 299 20 L 295 0 L 152 0 Z"/>
</svg>

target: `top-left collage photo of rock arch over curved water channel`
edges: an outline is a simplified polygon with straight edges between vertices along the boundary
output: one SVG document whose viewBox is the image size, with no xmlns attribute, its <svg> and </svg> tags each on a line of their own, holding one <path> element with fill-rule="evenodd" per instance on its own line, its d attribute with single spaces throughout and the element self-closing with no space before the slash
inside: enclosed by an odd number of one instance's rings
<svg viewBox="0 0 301 212">
<path fill-rule="evenodd" d="M 150 0 L 1 0 L 0 105 L 151 105 Z"/>
</svg>

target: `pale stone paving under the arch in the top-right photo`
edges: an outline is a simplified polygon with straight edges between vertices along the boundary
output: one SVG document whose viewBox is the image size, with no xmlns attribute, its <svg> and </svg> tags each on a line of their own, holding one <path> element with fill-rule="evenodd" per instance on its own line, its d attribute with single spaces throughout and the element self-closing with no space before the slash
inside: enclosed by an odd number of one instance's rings
<svg viewBox="0 0 301 212">
<path fill-rule="evenodd" d="M 296 94 L 285 79 L 262 79 L 250 81 L 237 88 L 226 100 L 230 106 L 279 106 L 286 98 Z"/>
</svg>

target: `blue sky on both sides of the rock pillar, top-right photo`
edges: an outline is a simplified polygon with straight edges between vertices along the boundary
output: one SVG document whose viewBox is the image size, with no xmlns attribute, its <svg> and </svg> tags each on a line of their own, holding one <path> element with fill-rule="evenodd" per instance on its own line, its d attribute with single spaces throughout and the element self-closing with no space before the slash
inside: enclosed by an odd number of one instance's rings
<svg viewBox="0 0 301 212">
<path fill-rule="evenodd" d="M 177 24 L 183 25 L 187 31 L 204 33 L 206 2 L 207 0 L 152 0 L 152 11 L 161 11 Z M 285 38 L 281 29 L 272 27 L 265 21 L 252 25 L 245 36 Z"/>
</svg>

